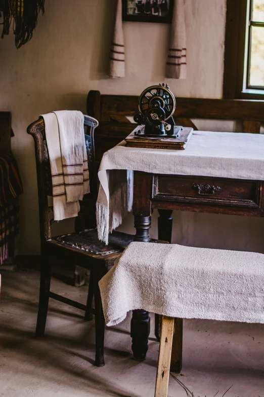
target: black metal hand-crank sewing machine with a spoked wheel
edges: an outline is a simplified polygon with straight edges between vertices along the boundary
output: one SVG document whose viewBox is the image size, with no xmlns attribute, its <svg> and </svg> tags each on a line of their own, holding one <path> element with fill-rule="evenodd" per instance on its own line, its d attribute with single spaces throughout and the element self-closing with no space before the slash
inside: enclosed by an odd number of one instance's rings
<svg viewBox="0 0 264 397">
<path fill-rule="evenodd" d="M 168 85 L 146 88 L 139 98 L 139 114 L 134 116 L 138 125 L 145 125 L 138 135 L 177 137 L 182 126 L 175 126 L 173 113 L 176 100 Z"/>
</svg>

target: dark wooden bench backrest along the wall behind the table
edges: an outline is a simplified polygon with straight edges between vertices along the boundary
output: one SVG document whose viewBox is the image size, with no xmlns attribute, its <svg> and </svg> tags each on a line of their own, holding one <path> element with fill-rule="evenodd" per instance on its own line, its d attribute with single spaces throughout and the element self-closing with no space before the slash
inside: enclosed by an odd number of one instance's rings
<svg viewBox="0 0 264 397">
<path fill-rule="evenodd" d="M 190 119 L 241 120 L 243 132 L 259 133 L 264 121 L 264 100 L 176 98 L 174 120 L 197 129 Z M 87 115 L 99 121 L 95 131 L 96 161 L 124 139 L 133 129 L 126 116 L 138 111 L 138 96 L 87 95 Z"/>
</svg>

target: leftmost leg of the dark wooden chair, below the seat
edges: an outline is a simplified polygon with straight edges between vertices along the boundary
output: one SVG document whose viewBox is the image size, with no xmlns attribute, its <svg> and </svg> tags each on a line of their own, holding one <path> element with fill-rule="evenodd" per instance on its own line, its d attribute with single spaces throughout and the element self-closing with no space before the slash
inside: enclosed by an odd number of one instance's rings
<svg viewBox="0 0 264 397">
<path fill-rule="evenodd" d="M 46 260 L 41 261 L 40 270 L 40 287 L 39 287 L 39 301 L 38 313 L 36 322 L 36 336 L 44 336 L 46 319 L 49 305 L 49 293 L 51 286 L 51 265 Z"/>
</svg>

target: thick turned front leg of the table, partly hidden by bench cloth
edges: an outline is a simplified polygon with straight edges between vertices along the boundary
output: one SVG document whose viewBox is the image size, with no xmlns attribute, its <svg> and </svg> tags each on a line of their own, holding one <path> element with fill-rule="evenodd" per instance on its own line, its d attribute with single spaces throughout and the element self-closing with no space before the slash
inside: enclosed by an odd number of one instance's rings
<svg viewBox="0 0 264 397">
<path fill-rule="evenodd" d="M 134 241 L 149 242 L 151 227 L 151 192 L 152 175 L 134 172 L 134 206 L 136 235 Z M 148 351 L 150 317 L 146 310 L 133 310 L 130 326 L 132 351 L 136 360 L 145 360 Z"/>
</svg>

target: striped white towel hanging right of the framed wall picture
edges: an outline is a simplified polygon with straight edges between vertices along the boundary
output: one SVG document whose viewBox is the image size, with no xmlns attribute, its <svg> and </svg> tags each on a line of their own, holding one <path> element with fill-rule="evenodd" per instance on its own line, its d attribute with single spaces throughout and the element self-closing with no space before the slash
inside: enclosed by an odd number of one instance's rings
<svg viewBox="0 0 264 397">
<path fill-rule="evenodd" d="M 186 79 L 186 27 L 184 0 L 174 0 L 165 77 Z"/>
</svg>

